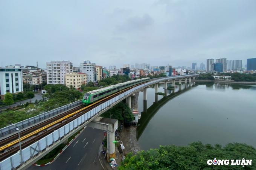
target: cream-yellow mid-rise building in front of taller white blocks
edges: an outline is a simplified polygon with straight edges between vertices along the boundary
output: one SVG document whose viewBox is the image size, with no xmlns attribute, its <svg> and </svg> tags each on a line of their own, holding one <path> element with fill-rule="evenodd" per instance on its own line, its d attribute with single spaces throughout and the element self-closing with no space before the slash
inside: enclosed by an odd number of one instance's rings
<svg viewBox="0 0 256 170">
<path fill-rule="evenodd" d="M 85 73 L 67 73 L 65 76 L 65 85 L 70 88 L 73 86 L 80 89 L 82 84 L 87 84 L 87 74 Z"/>
</svg>

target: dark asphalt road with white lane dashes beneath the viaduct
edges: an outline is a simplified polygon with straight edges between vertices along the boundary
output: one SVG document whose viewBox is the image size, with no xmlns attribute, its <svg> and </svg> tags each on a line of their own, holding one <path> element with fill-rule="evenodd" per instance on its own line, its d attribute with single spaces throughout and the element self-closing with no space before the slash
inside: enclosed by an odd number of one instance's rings
<svg viewBox="0 0 256 170">
<path fill-rule="evenodd" d="M 28 170 L 102 170 L 98 154 L 103 137 L 102 130 L 86 127 L 51 164 L 31 166 Z"/>
</svg>

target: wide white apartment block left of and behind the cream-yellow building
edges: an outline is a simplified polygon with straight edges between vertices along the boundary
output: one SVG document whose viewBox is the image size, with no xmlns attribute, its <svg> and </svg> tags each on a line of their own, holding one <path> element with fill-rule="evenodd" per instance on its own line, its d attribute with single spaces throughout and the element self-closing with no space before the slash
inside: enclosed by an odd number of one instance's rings
<svg viewBox="0 0 256 170">
<path fill-rule="evenodd" d="M 65 84 L 65 74 L 73 72 L 70 61 L 51 61 L 46 66 L 47 84 Z"/>
</svg>

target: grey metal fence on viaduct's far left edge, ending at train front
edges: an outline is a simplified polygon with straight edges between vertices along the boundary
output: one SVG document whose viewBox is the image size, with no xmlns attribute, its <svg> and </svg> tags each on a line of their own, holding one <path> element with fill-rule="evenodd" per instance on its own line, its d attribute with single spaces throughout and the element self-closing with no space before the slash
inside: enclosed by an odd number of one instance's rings
<svg viewBox="0 0 256 170">
<path fill-rule="evenodd" d="M 50 110 L 49 112 L 45 112 L 40 115 L 34 116 L 32 118 L 26 119 L 24 121 L 18 122 L 16 124 L 6 126 L 2 129 L 0 129 L 0 137 L 4 137 L 8 134 L 16 132 L 17 131 L 16 128 L 19 128 L 19 129 L 26 128 L 30 125 L 33 125 L 33 124 L 40 122 L 44 119 L 50 118 L 50 117 L 57 115 L 58 113 L 61 113 L 65 110 L 68 110 L 72 107 L 78 106 L 81 103 L 82 103 L 82 100 L 78 100 L 73 103 L 67 104 L 65 106 L 58 107 L 57 109 Z"/>
</svg>

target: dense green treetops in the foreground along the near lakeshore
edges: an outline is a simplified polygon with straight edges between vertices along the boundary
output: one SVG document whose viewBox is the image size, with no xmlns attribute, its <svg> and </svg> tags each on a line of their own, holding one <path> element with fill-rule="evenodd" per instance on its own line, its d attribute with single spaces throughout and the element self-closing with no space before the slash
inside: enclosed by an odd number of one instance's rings
<svg viewBox="0 0 256 170">
<path fill-rule="evenodd" d="M 256 160 L 256 149 L 242 143 L 229 143 L 225 147 L 216 144 L 202 144 L 193 142 L 189 146 L 160 146 L 157 149 L 140 151 L 136 155 L 126 155 L 119 170 L 144 170 L 144 169 L 219 169 L 214 165 L 207 165 L 207 160 Z M 256 169 L 256 164 L 242 167 L 241 165 L 221 166 L 223 170 L 230 169 Z"/>
</svg>

